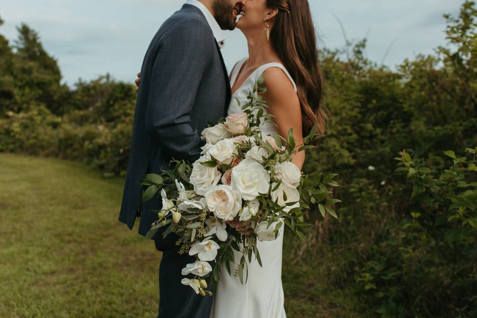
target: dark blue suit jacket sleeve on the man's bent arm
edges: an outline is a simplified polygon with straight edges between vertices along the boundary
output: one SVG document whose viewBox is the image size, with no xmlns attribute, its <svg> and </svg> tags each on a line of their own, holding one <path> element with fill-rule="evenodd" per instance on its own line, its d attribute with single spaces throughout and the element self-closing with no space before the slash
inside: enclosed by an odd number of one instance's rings
<svg viewBox="0 0 477 318">
<path fill-rule="evenodd" d="M 216 49 L 211 36 L 203 21 L 181 21 L 164 36 L 153 65 L 146 130 L 173 159 L 192 162 L 204 145 L 190 125 L 190 112 Z"/>
</svg>

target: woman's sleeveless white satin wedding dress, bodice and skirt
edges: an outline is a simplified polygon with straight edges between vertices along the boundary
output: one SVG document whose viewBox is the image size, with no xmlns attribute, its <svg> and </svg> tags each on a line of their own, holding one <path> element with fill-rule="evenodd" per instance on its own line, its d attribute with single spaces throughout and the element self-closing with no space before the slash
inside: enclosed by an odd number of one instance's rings
<svg viewBox="0 0 477 318">
<path fill-rule="evenodd" d="M 247 59 L 237 63 L 232 75 L 231 85 L 234 86 L 240 69 Z M 268 68 L 279 68 L 288 76 L 293 83 L 295 91 L 297 86 L 285 67 L 279 63 L 269 63 L 262 65 L 255 70 L 241 84 L 237 91 L 232 95 L 232 101 L 229 107 L 229 114 L 242 112 L 240 105 L 247 102 L 247 96 L 253 91 L 253 86 L 260 75 Z M 261 127 L 263 137 L 275 132 L 275 126 L 265 124 Z M 258 241 L 258 250 L 263 267 L 260 267 L 258 261 L 252 257 L 252 262 L 248 266 L 248 281 L 241 284 L 238 277 L 234 276 L 234 270 L 237 263 L 230 264 L 232 276 L 229 275 L 225 265 L 221 268 L 221 276 L 217 291 L 212 304 L 210 318 L 286 318 L 284 308 L 284 294 L 282 287 L 282 248 L 283 231 L 276 240 Z M 235 260 L 239 262 L 241 253 L 235 251 Z M 245 275 L 245 272 L 244 272 Z M 244 276 L 245 281 L 245 276 Z"/>
</svg>

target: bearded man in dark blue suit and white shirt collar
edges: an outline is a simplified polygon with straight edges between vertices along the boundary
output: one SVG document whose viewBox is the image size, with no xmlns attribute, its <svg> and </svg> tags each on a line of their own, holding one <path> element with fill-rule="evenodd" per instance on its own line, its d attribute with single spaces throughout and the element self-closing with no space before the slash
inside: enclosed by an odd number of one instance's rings
<svg viewBox="0 0 477 318">
<path fill-rule="evenodd" d="M 188 0 L 154 36 L 141 68 L 133 138 L 119 221 L 146 235 L 160 209 L 157 198 L 142 202 L 138 180 L 171 168 L 171 159 L 193 162 L 204 145 L 200 133 L 226 115 L 231 87 L 220 49 L 221 29 L 233 30 L 241 0 Z M 162 251 L 158 318 L 209 318 L 212 297 L 180 283 L 181 269 L 195 258 L 178 254 L 175 241 L 161 231 L 153 237 Z M 137 264 L 142 266 L 143 264 Z"/>
</svg>

